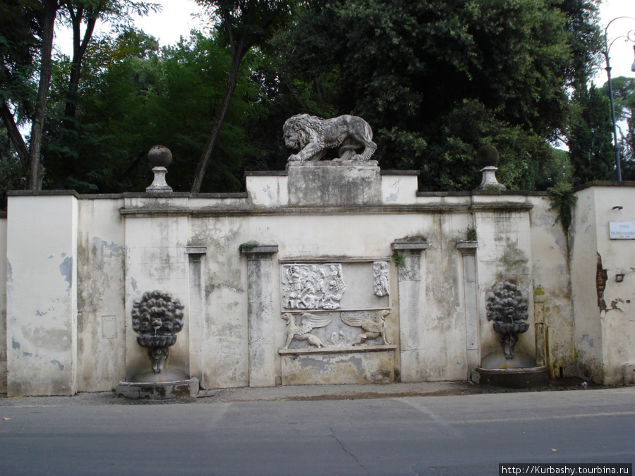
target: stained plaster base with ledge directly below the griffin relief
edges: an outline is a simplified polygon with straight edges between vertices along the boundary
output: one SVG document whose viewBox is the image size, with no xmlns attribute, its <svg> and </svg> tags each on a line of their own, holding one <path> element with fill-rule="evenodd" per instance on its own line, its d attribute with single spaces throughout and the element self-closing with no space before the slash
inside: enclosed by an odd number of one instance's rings
<svg viewBox="0 0 635 476">
<path fill-rule="evenodd" d="M 389 384 L 397 346 L 279 350 L 283 385 Z"/>
</svg>

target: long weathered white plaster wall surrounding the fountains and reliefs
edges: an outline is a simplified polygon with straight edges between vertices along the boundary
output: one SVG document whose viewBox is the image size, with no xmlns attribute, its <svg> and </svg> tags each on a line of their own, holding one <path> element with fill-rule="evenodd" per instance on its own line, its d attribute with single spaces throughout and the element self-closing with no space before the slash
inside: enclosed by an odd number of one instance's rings
<svg viewBox="0 0 635 476">
<path fill-rule="evenodd" d="M 263 177 L 252 178 L 258 186 L 265 185 Z M 387 200 L 392 178 L 382 177 L 387 185 L 382 188 L 382 200 Z M 408 186 L 402 192 L 411 188 L 413 177 L 407 178 Z M 239 251 L 241 243 L 278 245 L 271 283 L 277 349 L 284 344 L 285 330 L 284 320 L 279 319 L 281 261 L 385 260 L 392 254 L 391 243 L 415 236 L 424 237 L 429 245 L 421 251 L 423 312 L 418 329 L 425 355 L 420 369 L 423 379 L 466 379 L 471 369 L 466 357 L 464 270 L 456 243 L 466 238 L 472 226 L 478 233 L 476 299 L 481 355 L 501 352 L 492 323 L 486 319 L 485 294 L 497 281 L 516 279 L 536 303 L 530 307 L 531 326 L 520 336 L 517 351 L 535 354 L 534 324 L 543 322 L 548 329 L 549 364 L 556 376 L 561 368 L 563 374 L 574 374 L 579 357 L 583 374 L 598 382 L 605 377 L 606 382 L 617 382 L 622 364 L 635 361 L 633 241 L 608 239 L 609 220 L 635 221 L 628 207 L 635 202 L 632 188 L 595 187 L 578 193 L 569 288 L 567 241 L 547 197 L 422 195 L 413 199 L 396 194 L 394 205 L 406 207 L 386 207 L 382 212 L 377 208 L 329 209 L 328 214 L 317 208 L 288 207 L 279 214 L 260 212 L 258 208 L 286 205 L 282 203 L 286 200 L 285 180 L 286 176 L 274 176 L 277 195 L 269 203 L 264 195 L 260 197 L 255 210 L 250 208 L 251 195 L 86 197 L 79 202 L 71 195 L 11 197 L 8 221 L 0 220 L 0 254 L 6 233 L 6 255 L 11 263 L 4 271 L 8 278 L 8 366 L 16 376 L 11 392 L 110 390 L 119 379 L 149 368 L 150 360 L 131 328 L 131 307 L 135 298 L 154 289 L 168 291 L 186 303 L 185 327 L 171 348 L 169 365 L 191 372 L 205 388 L 246 386 L 248 276 L 246 257 Z M 411 208 L 411 200 L 426 207 Z M 470 203 L 473 208 L 468 210 Z M 615 205 L 624 209 L 614 211 Z M 463 208 L 456 209 L 459 206 Z M 435 212 L 435 207 L 442 212 Z M 191 302 L 196 293 L 192 291 L 188 245 L 206 248 L 200 262 L 200 304 Z M 603 296 L 607 312 L 600 312 L 595 293 L 598 253 L 609 278 Z M 73 264 L 70 278 L 60 272 L 59 260 L 66 257 Z M 77 276 L 73 276 L 75 269 Z M 617 273 L 625 274 L 623 283 L 615 282 Z M 399 343 L 399 283 L 393 262 L 390 276 L 393 315 L 387 324 Z M 66 279 L 71 280 L 70 287 Z M 37 300 L 33 299 L 35 289 Z M 0 319 L 1 293 L 2 288 Z M 196 329 L 189 329 L 194 322 L 190 310 L 198 313 Z M 397 369 L 399 355 L 398 348 Z M 3 372 L 1 365 L 0 353 Z M 282 360 L 277 352 L 274 365 L 279 375 Z"/>
</svg>

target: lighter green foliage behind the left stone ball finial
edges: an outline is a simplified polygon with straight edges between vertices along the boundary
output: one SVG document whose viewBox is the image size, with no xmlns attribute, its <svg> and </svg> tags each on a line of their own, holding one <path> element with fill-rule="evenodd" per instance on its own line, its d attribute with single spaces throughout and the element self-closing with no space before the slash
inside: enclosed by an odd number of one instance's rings
<svg viewBox="0 0 635 476">
<path fill-rule="evenodd" d="M 93 51 L 94 50 L 94 51 Z M 214 191 L 242 187 L 244 159 L 258 154 L 243 123 L 262 118 L 260 85 L 248 80 L 258 55 L 248 54 L 238 74 L 236 94 L 226 114 L 203 185 Z M 171 149 L 168 181 L 188 190 L 195 157 L 212 127 L 214 108 L 222 101 L 229 50 L 216 37 L 196 33 L 174 47 L 159 50 L 154 38 L 138 30 L 102 37 L 89 47 L 75 128 L 60 134 L 64 123 L 64 88 L 69 64 L 57 63 L 59 83 L 44 161 L 47 188 L 82 193 L 143 191 L 152 174 L 145 164 L 152 145 Z"/>
</svg>

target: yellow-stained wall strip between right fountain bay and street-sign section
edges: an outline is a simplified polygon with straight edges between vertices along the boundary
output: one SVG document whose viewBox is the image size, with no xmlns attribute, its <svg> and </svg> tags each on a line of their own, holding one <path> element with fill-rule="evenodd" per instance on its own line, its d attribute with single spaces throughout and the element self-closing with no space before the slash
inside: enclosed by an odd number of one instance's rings
<svg viewBox="0 0 635 476">
<path fill-rule="evenodd" d="M 529 197 L 534 322 L 545 324 L 545 344 L 552 377 L 577 374 L 569 248 L 562 224 L 550 210 L 548 196 Z"/>
</svg>

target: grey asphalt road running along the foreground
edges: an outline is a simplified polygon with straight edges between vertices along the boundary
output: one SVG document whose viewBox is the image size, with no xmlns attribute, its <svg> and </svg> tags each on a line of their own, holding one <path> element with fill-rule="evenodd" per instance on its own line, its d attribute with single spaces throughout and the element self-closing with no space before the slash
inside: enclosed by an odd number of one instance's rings
<svg viewBox="0 0 635 476">
<path fill-rule="evenodd" d="M 497 475 L 498 463 L 635 463 L 634 388 L 46 402 L 0 404 L 1 475 Z"/>
</svg>

